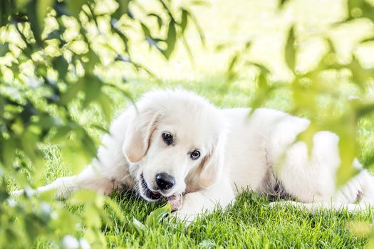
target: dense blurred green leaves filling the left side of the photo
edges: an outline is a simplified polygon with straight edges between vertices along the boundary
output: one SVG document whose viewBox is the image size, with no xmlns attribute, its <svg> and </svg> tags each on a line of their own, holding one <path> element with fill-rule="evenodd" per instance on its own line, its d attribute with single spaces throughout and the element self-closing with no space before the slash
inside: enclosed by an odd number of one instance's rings
<svg viewBox="0 0 374 249">
<path fill-rule="evenodd" d="M 36 196 L 32 189 L 41 185 L 46 144 L 58 144 L 75 172 L 95 156 L 95 141 L 72 108 L 97 105 L 110 121 L 108 90 L 131 100 L 123 85 L 126 75 L 116 84 L 105 79 L 105 69 L 119 65 L 152 75 L 130 54 L 137 27 L 166 59 L 177 41 L 188 47 L 187 24 L 199 29 L 189 11 L 193 1 L 155 4 L 157 12 L 135 0 L 0 2 L 0 248 L 30 248 L 38 238 L 66 248 L 105 248 L 103 228 L 113 224 L 104 206 L 124 221 L 108 197 L 78 192 L 64 205 L 53 193 Z M 149 28 L 152 22 L 158 29 Z M 17 201 L 9 196 L 14 184 L 26 189 Z M 75 207 L 80 211 L 71 213 Z"/>
</svg>

